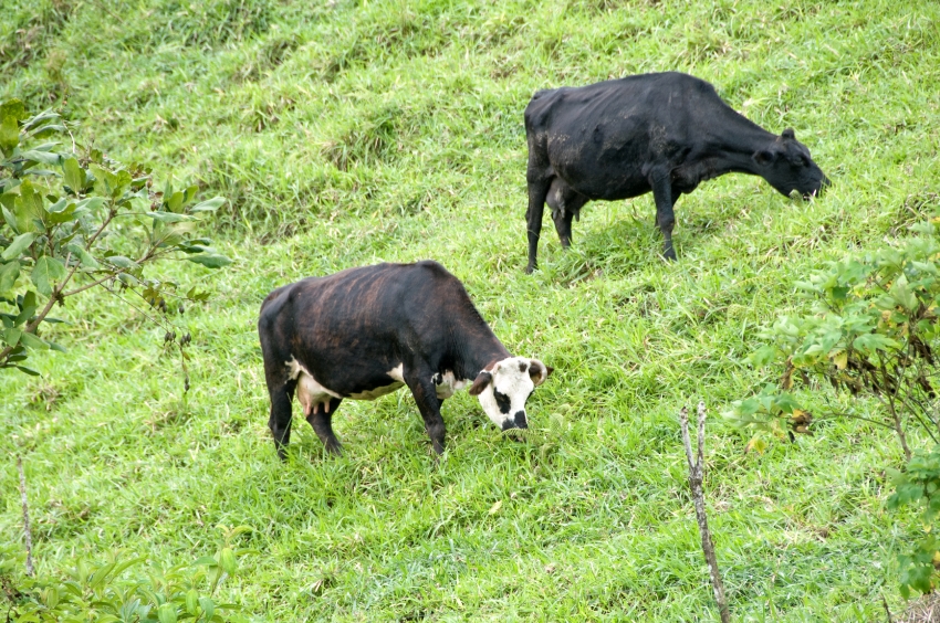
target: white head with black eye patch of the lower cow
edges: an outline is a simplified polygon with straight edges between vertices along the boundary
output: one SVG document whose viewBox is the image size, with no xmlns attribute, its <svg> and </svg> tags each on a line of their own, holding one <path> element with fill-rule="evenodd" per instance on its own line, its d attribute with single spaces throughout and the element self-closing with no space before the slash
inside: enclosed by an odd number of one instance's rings
<svg viewBox="0 0 940 623">
<path fill-rule="evenodd" d="M 551 373 L 552 368 L 537 359 L 509 357 L 477 374 L 470 395 L 480 399 L 483 411 L 501 430 L 528 429 L 525 401 Z"/>
</svg>

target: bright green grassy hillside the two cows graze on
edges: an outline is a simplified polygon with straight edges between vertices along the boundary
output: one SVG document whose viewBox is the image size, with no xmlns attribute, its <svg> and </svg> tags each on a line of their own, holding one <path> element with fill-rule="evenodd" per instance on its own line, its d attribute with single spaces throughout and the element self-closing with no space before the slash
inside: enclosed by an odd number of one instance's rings
<svg viewBox="0 0 940 623">
<path fill-rule="evenodd" d="M 186 397 L 161 331 L 92 296 L 59 314 L 70 352 L 38 358 L 42 378 L 0 377 L 0 546 L 21 547 L 23 452 L 44 572 L 116 548 L 187 562 L 211 553 L 216 525 L 244 524 L 258 553 L 223 596 L 259 621 L 718 620 L 677 419 L 704 400 L 735 616 L 880 620 L 882 594 L 899 612 L 890 434 L 824 421 L 744 454 L 718 414 L 772 380 L 741 358 L 806 305 L 795 281 L 937 205 L 938 24 L 940 4 L 897 0 L 8 0 L 0 99 L 60 108 L 114 158 L 231 198 L 217 246 L 236 264 L 174 268 L 218 293 L 181 320 Z M 758 178 L 708 182 L 677 205 L 671 264 L 650 196 L 591 203 L 567 253 L 546 218 L 542 268 L 524 275 L 531 94 L 664 70 L 795 128 L 834 188 L 807 204 Z M 435 465 L 398 392 L 343 404 L 343 457 L 299 422 L 280 463 L 262 298 L 425 257 L 511 351 L 555 368 L 529 441 L 459 394 Z"/>
</svg>

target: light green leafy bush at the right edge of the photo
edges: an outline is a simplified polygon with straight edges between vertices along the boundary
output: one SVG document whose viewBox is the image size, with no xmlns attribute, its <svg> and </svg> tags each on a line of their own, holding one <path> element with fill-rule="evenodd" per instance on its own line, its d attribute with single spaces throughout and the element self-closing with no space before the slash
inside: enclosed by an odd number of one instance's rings
<svg viewBox="0 0 940 623">
<path fill-rule="evenodd" d="M 749 361 L 782 368 L 780 381 L 733 403 L 735 424 L 776 434 L 808 433 L 813 416 L 791 389 L 827 381 L 835 392 L 868 397 L 881 405 L 875 420 L 857 413 L 829 415 L 867 420 L 891 429 L 904 450 L 904 472 L 890 472 L 896 493 L 889 509 L 923 504 L 920 538 L 898 557 L 900 590 L 930 592 L 940 567 L 940 540 L 931 530 L 940 513 L 940 445 L 911 452 L 909 439 L 940 444 L 937 401 L 940 338 L 940 218 L 911 226 L 913 235 L 859 258 L 833 262 L 798 287 L 813 310 L 781 317 L 761 334 L 767 344 Z M 909 434 L 911 429 L 919 436 Z M 751 444 L 763 442 L 754 437 Z"/>
</svg>

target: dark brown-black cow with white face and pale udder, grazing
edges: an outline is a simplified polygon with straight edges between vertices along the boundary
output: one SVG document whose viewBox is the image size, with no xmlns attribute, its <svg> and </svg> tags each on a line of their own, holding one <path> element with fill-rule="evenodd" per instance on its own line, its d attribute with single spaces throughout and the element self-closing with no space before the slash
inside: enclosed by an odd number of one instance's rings
<svg viewBox="0 0 940 623">
<path fill-rule="evenodd" d="M 552 372 L 537 359 L 510 355 L 460 281 L 431 261 L 349 268 L 280 287 L 261 305 L 258 332 L 268 425 L 281 458 L 295 391 L 307 422 L 338 454 L 331 420 L 340 403 L 407 384 L 440 454 L 440 405 L 456 390 L 472 383 L 470 394 L 494 424 L 525 429 L 525 401 Z"/>
</svg>

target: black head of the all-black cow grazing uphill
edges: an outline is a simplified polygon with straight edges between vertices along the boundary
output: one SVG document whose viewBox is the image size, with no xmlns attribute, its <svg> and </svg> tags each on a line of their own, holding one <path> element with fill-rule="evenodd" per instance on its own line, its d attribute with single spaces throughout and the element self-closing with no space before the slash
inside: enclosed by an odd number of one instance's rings
<svg viewBox="0 0 940 623">
<path fill-rule="evenodd" d="M 756 151 L 753 158 L 758 163 L 756 172 L 787 197 L 796 190 L 803 199 L 810 199 L 829 184 L 829 179 L 810 157 L 806 146 L 796 140 L 791 128 Z"/>
</svg>

